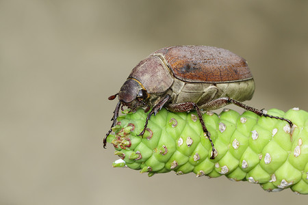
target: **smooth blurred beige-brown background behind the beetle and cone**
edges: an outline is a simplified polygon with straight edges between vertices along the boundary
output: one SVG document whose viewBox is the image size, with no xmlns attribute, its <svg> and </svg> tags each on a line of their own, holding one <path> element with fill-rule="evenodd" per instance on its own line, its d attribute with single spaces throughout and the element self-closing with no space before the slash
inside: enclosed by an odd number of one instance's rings
<svg viewBox="0 0 308 205">
<path fill-rule="evenodd" d="M 305 203 L 292 191 L 112 168 L 103 149 L 133 66 L 164 46 L 247 59 L 257 108 L 307 107 L 308 1 L 0 1 L 0 204 Z M 234 108 L 231 106 L 231 108 Z M 238 111 L 242 111 L 238 109 Z"/>
</svg>

